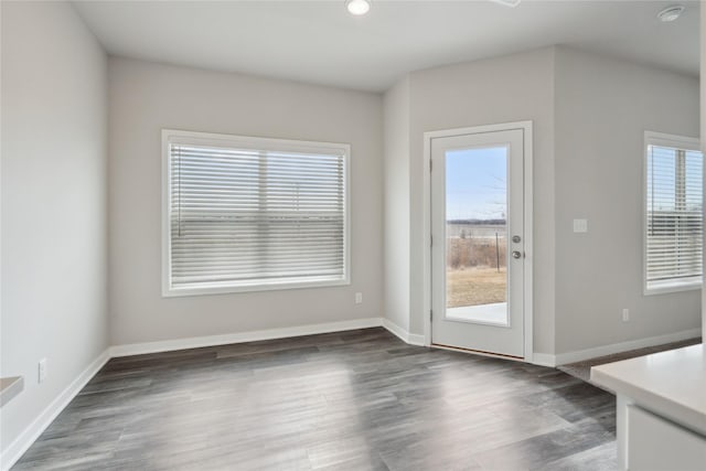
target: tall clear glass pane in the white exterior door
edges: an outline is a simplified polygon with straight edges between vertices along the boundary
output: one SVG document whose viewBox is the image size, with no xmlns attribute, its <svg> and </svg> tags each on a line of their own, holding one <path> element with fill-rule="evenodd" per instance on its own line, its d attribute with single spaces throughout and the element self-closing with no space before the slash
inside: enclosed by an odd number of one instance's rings
<svg viewBox="0 0 706 471">
<path fill-rule="evenodd" d="M 509 325 L 507 148 L 446 152 L 446 317 Z"/>
</svg>

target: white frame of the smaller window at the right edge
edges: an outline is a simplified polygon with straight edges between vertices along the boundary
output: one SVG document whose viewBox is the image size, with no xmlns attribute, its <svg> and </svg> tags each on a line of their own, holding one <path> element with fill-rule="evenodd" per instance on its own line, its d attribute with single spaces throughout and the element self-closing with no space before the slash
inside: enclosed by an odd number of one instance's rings
<svg viewBox="0 0 706 471">
<path fill-rule="evenodd" d="M 704 282 L 704 264 L 702 261 L 702 278 L 699 281 L 665 280 L 659 286 L 650 287 L 648 283 L 648 159 L 650 158 L 650 146 L 697 151 L 703 156 L 700 141 L 698 138 L 687 136 L 670 135 L 665 132 L 644 131 L 644 146 L 642 151 L 642 288 L 644 296 L 666 295 L 682 291 L 700 290 Z M 706 167 L 704 167 L 706 169 Z M 702 173 L 702 224 L 704 222 L 704 173 Z M 702 253 L 704 250 L 704 238 L 702 238 Z"/>
</svg>

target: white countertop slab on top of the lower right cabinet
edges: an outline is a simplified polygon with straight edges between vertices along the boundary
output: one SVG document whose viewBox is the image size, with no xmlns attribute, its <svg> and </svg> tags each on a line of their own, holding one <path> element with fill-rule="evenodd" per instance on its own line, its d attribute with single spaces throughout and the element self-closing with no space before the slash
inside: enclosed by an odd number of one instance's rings
<svg viewBox="0 0 706 471">
<path fill-rule="evenodd" d="M 593 366 L 591 381 L 706 435 L 704 344 Z"/>
</svg>

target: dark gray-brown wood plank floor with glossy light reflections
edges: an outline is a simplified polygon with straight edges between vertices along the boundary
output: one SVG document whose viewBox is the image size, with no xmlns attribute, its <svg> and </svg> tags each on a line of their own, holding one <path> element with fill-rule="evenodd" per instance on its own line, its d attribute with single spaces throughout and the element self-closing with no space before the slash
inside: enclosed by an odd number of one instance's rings
<svg viewBox="0 0 706 471">
<path fill-rule="evenodd" d="M 613 470 L 612 395 L 383 329 L 114 358 L 13 470 Z"/>
</svg>

